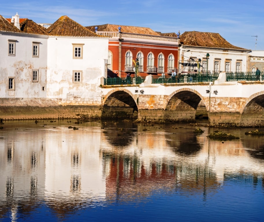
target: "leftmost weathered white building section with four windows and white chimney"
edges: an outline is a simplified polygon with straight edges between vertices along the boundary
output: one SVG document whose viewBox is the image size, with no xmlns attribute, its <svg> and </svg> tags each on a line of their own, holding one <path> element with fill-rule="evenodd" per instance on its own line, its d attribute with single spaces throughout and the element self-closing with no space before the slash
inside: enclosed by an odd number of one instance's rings
<svg viewBox="0 0 264 222">
<path fill-rule="evenodd" d="M 13 21 L 0 16 L 0 97 L 45 98 L 49 36 L 31 20 L 20 30 L 18 14 Z"/>
</svg>

